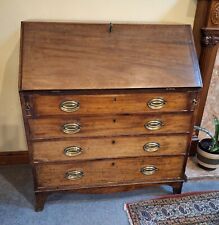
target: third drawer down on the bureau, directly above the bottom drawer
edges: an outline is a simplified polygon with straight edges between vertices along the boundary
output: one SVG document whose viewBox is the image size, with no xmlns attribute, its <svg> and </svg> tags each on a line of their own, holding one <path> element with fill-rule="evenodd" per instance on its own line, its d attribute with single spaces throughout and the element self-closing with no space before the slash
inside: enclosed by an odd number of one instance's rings
<svg viewBox="0 0 219 225">
<path fill-rule="evenodd" d="M 35 162 L 185 154 L 188 135 L 72 138 L 32 143 Z"/>
</svg>

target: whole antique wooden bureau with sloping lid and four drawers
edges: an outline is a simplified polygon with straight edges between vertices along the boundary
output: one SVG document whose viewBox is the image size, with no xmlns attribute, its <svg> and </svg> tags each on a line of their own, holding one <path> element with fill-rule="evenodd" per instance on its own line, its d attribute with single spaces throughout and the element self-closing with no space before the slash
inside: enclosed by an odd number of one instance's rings
<svg viewBox="0 0 219 225">
<path fill-rule="evenodd" d="M 22 22 L 36 210 L 56 191 L 180 193 L 201 86 L 190 26 Z"/>
</svg>

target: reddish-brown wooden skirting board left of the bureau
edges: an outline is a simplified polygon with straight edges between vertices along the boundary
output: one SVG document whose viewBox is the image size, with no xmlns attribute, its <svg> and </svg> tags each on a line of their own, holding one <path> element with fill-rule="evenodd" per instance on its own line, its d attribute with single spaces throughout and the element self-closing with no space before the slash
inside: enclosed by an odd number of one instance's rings
<svg viewBox="0 0 219 225">
<path fill-rule="evenodd" d="M 28 163 L 28 151 L 0 152 L 0 165 L 16 165 Z"/>
</svg>

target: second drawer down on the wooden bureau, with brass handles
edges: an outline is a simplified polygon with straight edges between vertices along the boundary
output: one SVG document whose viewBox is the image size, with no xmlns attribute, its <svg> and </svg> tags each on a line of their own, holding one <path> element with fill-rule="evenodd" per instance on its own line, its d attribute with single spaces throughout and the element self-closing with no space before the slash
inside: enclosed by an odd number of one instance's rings
<svg viewBox="0 0 219 225">
<path fill-rule="evenodd" d="M 31 138 L 95 137 L 190 131 L 191 113 L 30 119 Z"/>
</svg>

